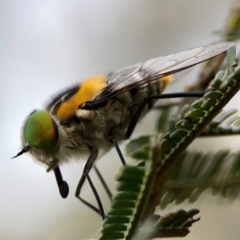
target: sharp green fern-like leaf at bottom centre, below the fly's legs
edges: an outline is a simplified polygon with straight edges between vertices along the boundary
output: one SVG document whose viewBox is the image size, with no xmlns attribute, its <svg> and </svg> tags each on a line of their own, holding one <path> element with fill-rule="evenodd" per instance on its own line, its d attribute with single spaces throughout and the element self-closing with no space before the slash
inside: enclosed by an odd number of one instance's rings
<svg viewBox="0 0 240 240">
<path fill-rule="evenodd" d="M 121 174 L 117 177 L 118 192 L 104 221 L 99 240 L 131 239 L 141 224 L 155 182 L 156 166 L 160 161 L 159 147 L 154 147 L 151 152 L 153 152 L 151 161 L 146 161 L 144 168 L 139 166 L 122 168 Z"/>
</svg>

